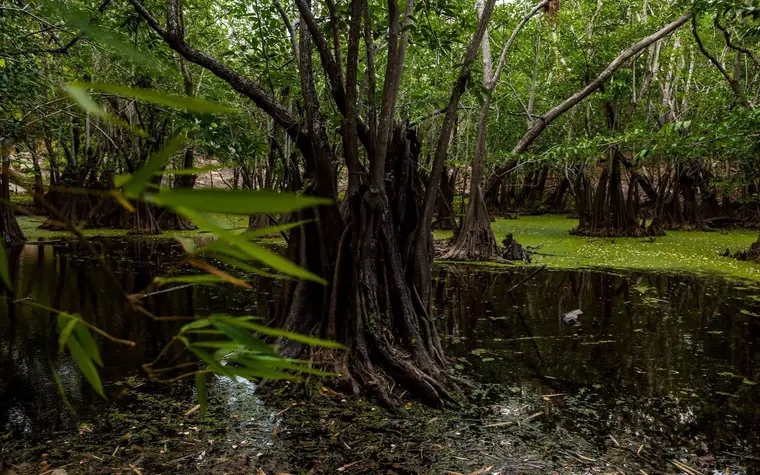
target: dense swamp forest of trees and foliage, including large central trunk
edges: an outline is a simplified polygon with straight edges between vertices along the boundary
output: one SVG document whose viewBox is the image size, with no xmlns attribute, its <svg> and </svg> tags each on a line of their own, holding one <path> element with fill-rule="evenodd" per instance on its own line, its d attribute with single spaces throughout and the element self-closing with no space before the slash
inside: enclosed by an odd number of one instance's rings
<svg viewBox="0 0 760 475">
<path fill-rule="evenodd" d="M 0 233 L 24 240 L 11 182 L 41 227 L 73 231 L 203 226 L 150 190 L 216 169 L 329 200 L 249 220 L 302 223 L 287 257 L 318 276 L 283 285 L 273 322 L 345 344 L 355 392 L 393 404 L 398 382 L 439 405 L 459 387 L 429 315 L 435 227 L 454 230 L 446 259 L 487 260 L 511 213 L 603 237 L 760 224 L 758 16 L 728 0 L 7 2 Z"/>
</svg>

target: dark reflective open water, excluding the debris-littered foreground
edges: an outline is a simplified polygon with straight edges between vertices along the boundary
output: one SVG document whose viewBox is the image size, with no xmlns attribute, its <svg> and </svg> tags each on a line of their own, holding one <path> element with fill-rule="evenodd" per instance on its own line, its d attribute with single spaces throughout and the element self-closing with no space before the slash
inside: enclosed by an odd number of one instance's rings
<svg viewBox="0 0 760 475">
<path fill-rule="evenodd" d="M 144 289 L 177 261 L 175 243 L 95 245 L 116 279 L 78 245 L 27 245 L 12 256 L 14 295 L 0 301 L 1 433 L 47 437 L 75 427 L 51 365 L 80 414 L 92 417 L 109 404 L 57 354 L 54 317 L 28 302 L 79 313 L 137 343 L 101 345 L 111 397 L 179 327 L 126 312 L 118 288 Z M 691 450 L 706 467 L 760 469 L 757 287 L 720 277 L 545 270 L 508 292 L 531 272 L 436 271 L 437 324 L 454 368 L 482 383 L 474 397 L 491 412 L 481 426 L 506 424 L 528 406 L 523 401 L 532 401 L 527 410 L 540 413 L 531 426 L 538 442 L 600 448 L 616 434 L 615 443 L 635 439 L 663 458 Z M 153 295 L 146 306 L 162 316 L 273 312 L 276 283 L 254 287 L 184 287 Z M 576 309 L 582 311 L 577 319 L 562 318 Z"/>
</svg>

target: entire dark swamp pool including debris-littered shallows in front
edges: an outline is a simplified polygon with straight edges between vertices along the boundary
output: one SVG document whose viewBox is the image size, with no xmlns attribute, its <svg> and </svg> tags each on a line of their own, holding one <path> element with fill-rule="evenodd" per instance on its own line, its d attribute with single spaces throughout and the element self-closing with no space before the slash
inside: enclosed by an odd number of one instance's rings
<svg viewBox="0 0 760 475">
<path fill-rule="evenodd" d="M 161 240 L 95 245 L 128 293 L 180 255 Z M 140 377 L 178 323 L 127 314 L 106 270 L 77 245 L 28 245 L 13 258 L 14 295 L 0 300 L 0 460 L 20 473 L 127 473 L 130 464 L 146 473 L 760 473 L 751 284 L 544 270 L 508 294 L 534 269 L 438 266 L 447 356 L 476 382 L 467 407 L 411 403 L 390 414 L 328 389 L 315 391 L 320 402 L 262 402 L 253 385 L 218 379 L 201 418 L 185 414 L 190 384 Z M 276 297 L 276 283 L 261 281 L 250 291 L 186 287 L 146 306 L 161 316 L 266 315 Z M 107 401 L 57 354 L 54 319 L 29 301 L 137 343 L 101 342 Z M 577 321 L 561 318 L 576 309 Z"/>
</svg>

